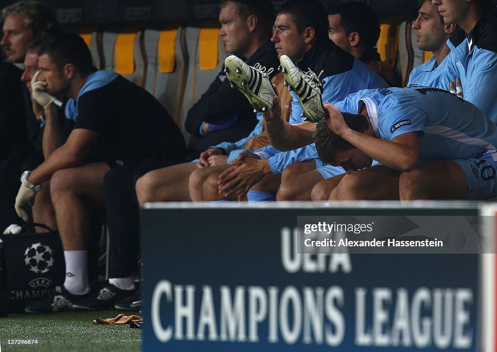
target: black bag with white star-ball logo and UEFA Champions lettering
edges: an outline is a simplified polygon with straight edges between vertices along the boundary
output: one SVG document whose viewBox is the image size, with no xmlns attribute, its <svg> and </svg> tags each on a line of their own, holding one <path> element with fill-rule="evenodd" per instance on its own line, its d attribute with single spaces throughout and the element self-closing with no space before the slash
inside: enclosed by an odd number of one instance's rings
<svg viewBox="0 0 497 352">
<path fill-rule="evenodd" d="M 36 233 L 35 226 L 49 232 Z M 47 296 L 55 285 L 64 282 L 66 267 L 59 232 L 40 223 L 21 228 L 21 233 L 0 235 L 0 315 L 2 311 L 24 311 L 26 302 Z M 5 301 L 6 309 L 2 306 Z"/>
</svg>

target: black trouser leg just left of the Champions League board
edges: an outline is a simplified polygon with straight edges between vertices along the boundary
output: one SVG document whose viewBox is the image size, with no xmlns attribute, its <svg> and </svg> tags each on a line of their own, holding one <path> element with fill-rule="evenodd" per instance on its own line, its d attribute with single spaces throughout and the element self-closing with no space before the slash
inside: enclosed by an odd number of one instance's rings
<svg viewBox="0 0 497 352">
<path fill-rule="evenodd" d="M 140 219 L 136 181 L 147 172 L 184 162 L 170 160 L 113 167 L 103 181 L 109 230 L 109 278 L 127 278 L 137 270 L 140 250 Z"/>
</svg>

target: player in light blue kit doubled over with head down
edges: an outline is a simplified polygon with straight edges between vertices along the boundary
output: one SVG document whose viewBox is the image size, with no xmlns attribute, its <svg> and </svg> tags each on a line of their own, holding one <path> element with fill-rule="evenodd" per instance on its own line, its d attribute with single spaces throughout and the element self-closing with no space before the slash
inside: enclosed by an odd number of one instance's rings
<svg viewBox="0 0 497 352">
<path fill-rule="evenodd" d="M 346 171 L 336 176 L 330 200 L 496 197 L 496 125 L 454 94 L 432 87 L 361 90 L 325 108 L 316 148 Z M 370 167 L 372 159 L 382 165 Z"/>
</svg>

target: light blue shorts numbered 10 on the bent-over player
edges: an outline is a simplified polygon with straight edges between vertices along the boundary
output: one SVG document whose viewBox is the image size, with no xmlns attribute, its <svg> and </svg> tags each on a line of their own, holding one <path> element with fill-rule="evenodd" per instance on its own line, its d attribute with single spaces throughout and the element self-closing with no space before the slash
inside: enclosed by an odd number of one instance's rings
<svg viewBox="0 0 497 352">
<path fill-rule="evenodd" d="M 492 156 L 455 159 L 466 174 L 470 193 L 467 200 L 484 201 L 497 197 L 497 162 Z"/>
</svg>

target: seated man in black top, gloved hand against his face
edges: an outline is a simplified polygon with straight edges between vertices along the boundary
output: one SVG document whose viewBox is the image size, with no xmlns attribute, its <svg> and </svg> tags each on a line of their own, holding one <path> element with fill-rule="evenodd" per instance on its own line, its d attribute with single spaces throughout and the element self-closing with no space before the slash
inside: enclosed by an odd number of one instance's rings
<svg viewBox="0 0 497 352">
<path fill-rule="evenodd" d="M 33 77 L 32 83 L 41 85 L 48 94 L 66 97 L 66 116 L 75 123 L 67 141 L 33 171 L 23 173 L 15 200 L 15 210 L 27 220 L 26 207 L 35 198 L 43 203 L 36 195 L 49 182 L 64 248 L 64 285 L 57 286 L 45 297 L 48 299 L 28 304 L 26 311 L 32 313 L 69 309 L 89 297 L 89 210 L 103 205 L 105 174 L 143 162 L 167 162 L 185 153 L 181 131 L 159 101 L 115 72 L 96 70 L 78 34 L 47 37 L 39 48 L 38 68 L 38 80 Z M 54 104 L 41 105 L 48 123 L 55 117 Z M 58 141 L 62 137 L 53 125 L 50 134 L 44 131 L 44 147 L 47 139 Z M 113 293 L 131 294 L 134 288 Z"/>
</svg>

